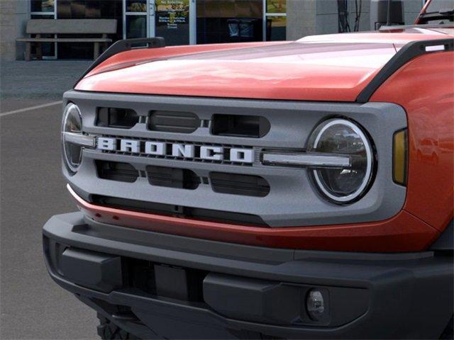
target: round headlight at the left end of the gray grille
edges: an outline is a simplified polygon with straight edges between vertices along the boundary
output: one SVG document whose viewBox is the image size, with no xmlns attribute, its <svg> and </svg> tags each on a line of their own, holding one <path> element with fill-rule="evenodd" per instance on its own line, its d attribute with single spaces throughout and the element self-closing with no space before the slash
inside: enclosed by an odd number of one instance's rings
<svg viewBox="0 0 454 340">
<path fill-rule="evenodd" d="M 69 103 L 63 113 L 62 143 L 65 163 L 72 172 L 76 172 L 82 160 L 82 146 L 70 142 L 67 134 L 82 135 L 82 115 L 74 103 Z"/>
</svg>

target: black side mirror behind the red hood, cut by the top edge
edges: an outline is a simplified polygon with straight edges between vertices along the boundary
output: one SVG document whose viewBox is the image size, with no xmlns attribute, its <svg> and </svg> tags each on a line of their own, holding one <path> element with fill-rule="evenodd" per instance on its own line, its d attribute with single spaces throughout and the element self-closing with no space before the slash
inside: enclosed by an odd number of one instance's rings
<svg viewBox="0 0 454 340">
<path fill-rule="evenodd" d="M 381 26 L 404 25 L 404 1 L 371 0 L 370 29 L 378 30 Z"/>
</svg>

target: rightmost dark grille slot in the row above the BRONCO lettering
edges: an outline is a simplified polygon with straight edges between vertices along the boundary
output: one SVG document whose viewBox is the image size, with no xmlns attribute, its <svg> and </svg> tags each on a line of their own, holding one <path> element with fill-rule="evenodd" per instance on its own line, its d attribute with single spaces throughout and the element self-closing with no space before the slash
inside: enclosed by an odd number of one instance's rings
<svg viewBox="0 0 454 340">
<path fill-rule="evenodd" d="M 213 115 L 211 133 L 219 136 L 261 138 L 270 132 L 270 121 L 259 115 Z"/>
</svg>

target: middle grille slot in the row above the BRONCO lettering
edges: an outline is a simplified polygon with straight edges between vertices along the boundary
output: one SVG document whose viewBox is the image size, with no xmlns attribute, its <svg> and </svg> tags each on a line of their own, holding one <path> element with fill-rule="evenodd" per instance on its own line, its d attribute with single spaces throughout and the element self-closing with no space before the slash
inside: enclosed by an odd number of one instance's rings
<svg viewBox="0 0 454 340">
<path fill-rule="evenodd" d="M 152 131 L 192 133 L 200 126 L 194 113 L 174 111 L 151 111 L 148 129 Z"/>
</svg>

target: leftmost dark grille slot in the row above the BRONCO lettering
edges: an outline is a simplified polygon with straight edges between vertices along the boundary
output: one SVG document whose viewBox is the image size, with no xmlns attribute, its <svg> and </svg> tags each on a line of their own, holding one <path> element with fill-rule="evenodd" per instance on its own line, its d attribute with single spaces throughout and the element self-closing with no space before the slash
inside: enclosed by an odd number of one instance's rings
<svg viewBox="0 0 454 340">
<path fill-rule="evenodd" d="M 137 123 L 139 123 L 139 115 L 130 108 L 98 108 L 97 126 L 131 129 Z"/>
</svg>

